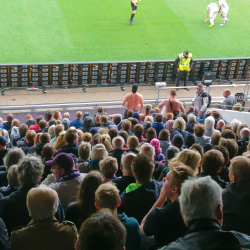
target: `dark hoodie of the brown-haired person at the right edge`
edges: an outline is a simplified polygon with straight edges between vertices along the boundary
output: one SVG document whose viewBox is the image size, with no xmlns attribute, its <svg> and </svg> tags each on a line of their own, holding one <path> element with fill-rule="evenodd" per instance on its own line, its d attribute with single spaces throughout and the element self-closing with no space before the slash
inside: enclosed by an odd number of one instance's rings
<svg viewBox="0 0 250 250">
<path fill-rule="evenodd" d="M 250 235 L 250 178 L 231 182 L 222 193 L 224 230 Z"/>
</svg>

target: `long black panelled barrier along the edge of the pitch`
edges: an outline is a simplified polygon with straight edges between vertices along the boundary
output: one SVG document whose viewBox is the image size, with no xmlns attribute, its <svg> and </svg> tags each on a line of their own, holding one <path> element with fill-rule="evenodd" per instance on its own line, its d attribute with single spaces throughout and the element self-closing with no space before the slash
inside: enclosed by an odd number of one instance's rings
<svg viewBox="0 0 250 250">
<path fill-rule="evenodd" d="M 250 58 L 194 60 L 189 80 L 200 81 L 211 71 L 213 80 L 250 80 Z M 124 84 L 173 83 L 177 68 L 173 60 L 141 62 L 81 62 L 2 64 L 0 87 L 117 86 Z"/>
</svg>

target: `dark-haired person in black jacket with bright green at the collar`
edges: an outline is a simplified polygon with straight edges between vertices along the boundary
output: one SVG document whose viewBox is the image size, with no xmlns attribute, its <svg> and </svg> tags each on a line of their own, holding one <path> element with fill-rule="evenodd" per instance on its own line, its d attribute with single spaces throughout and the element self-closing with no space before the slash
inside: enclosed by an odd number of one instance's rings
<svg viewBox="0 0 250 250">
<path fill-rule="evenodd" d="M 132 172 L 136 183 L 130 184 L 121 194 L 121 206 L 118 213 L 124 212 L 141 223 L 144 216 L 160 195 L 161 182 L 152 180 L 154 161 L 145 154 L 139 154 L 132 162 Z M 145 199 L 144 197 L 147 197 Z"/>
</svg>

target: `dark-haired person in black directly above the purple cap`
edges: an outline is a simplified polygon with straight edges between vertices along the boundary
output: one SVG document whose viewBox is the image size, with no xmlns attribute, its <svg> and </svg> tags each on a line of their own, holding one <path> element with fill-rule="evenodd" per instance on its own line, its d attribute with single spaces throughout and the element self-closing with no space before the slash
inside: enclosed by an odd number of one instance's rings
<svg viewBox="0 0 250 250">
<path fill-rule="evenodd" d="M 78 140 L 79 136 L 77 134 L 77 130 L 75 128 L 68 129 L 65 133 L 65 141 L 67 144 L 65 146 L 61 146 L 61 148 L 58 150 L 58 153 L 71 153 L 78 157 Z"/>
</svg>

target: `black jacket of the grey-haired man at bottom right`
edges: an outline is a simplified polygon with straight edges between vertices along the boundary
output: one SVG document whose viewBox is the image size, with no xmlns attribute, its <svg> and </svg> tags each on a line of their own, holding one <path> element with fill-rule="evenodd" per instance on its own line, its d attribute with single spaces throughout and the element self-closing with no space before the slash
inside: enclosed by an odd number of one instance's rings
<svg viewBox="0 0 250 250">
<path fill-rule="evenodd" d="M 250 247 L 250 236 L 223 231 L 215 220 L 194 221 L 187 234 L 161 250 L 239 250 Z"/>
</svg>

